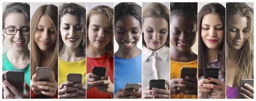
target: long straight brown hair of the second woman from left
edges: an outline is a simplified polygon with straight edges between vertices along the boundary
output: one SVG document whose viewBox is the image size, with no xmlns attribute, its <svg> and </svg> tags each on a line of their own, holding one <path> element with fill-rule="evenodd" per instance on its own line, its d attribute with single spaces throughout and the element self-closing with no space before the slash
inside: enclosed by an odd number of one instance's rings
<svg viewBox="0 0 256 101">
<path fill-rule="evenodd" d="M 55 33 L 55 45 L 52 46 L 52 50 L 50 52 L 50 68 L 55 75 L 55 80 L 58 82 L 58 7 L 55 5 L 41 5 L 36 9 L 35 13 L 31 18 L 31 75 L 35 74 L 35 68 L 41 66 L 42 60 L 41 57 L 41 49 L 39 49 L 38 45 L 35 43 L 35 30 L 41 16 L 48 16 L 53 23 L 54 33 Z"/>
</svg>

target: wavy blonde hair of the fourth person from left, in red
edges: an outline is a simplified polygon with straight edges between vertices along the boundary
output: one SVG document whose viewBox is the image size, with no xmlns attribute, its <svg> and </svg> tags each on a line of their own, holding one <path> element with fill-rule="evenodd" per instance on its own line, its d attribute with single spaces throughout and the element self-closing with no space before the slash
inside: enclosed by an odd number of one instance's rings
<svg viewBox="0 0 256 101">
<path fill-rule="evenodd" d="M 111 33 L 113 35 L 113 16 L 114 16 L 114 10 L 113 8 L 110 8 L 106 5 L 98 5 L 94 8 L 92 8 L 92 10 L 90 10 L 90 12 L 87 14 L 86 16 L 86 47 L 89 45 L 89 38 L 88 38 L 88 28 L 89 28 L 89 24 L 90 24 L 90 16 L 93 14 L 104 14 L 105 16 L 108 17 L 108 22 L 112 27 Z M 106 46 L 106 51 L 108 53 L 108 57 L 113 57 L 114 55 L 114 35 L 112 36 L 110 42 L 107 44 Z"/>
</svg>

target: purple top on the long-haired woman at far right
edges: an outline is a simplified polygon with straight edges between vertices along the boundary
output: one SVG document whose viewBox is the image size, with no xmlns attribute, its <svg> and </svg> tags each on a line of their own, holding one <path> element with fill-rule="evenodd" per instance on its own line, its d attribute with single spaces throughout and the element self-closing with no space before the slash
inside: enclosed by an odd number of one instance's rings
<svg viewBox="0 0 256 101">
<path fill-rule="evenodd" d="M 227 98 L 236 98 L 239 96 L 239 87 L 229 87 L 226 86 L 226 96 Z"/>
</svg>

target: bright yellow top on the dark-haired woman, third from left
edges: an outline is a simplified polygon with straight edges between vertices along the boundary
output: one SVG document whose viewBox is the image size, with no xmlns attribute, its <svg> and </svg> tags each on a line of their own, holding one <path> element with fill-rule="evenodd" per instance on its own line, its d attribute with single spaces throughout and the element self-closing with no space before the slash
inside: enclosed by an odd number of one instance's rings
<svg viewBox="0 0 256 101">
<path fill-rule="evenodd" d="M 82 74 L 82 84 L 86 83 L 86 58 L 70 62 L 58 59 L 58 85 L 63 82 L 67 82 L 67 74 Z"/>
</svg>

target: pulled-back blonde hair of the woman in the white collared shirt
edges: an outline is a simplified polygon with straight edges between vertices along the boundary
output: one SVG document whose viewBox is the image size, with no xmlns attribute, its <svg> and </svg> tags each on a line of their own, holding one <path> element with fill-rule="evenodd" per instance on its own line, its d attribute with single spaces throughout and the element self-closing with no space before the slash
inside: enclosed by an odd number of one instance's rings
<svg viewBox="0 0 256 101">
<path fill-rule="evenodd" d="M 143 9 L 142 22 L 148 17 L 164 18 L 168 23 L 168 35 L 166 38 L 166 45 L 170 47 L 170 10 L 162 3 L 150 3 Z M 142 33 L 142 43 L 146 45 L 144 40 L 144 33 Z"/>
</svg>

